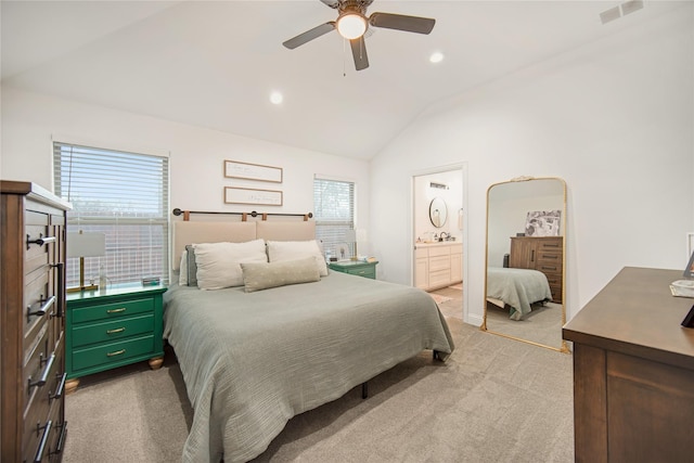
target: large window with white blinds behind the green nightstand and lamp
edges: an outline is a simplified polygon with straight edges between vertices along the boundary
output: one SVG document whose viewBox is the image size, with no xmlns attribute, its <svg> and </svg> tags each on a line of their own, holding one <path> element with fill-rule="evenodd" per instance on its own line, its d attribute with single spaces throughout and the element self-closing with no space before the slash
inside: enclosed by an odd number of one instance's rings
<svg viewBox="0 0 694 463">
<path fill-rule="evenodd" d="M 168 280 L 168 157 L 53 143 L 55 194 L 69 201 L 67 231 L 103 232 L 106 255 L 85 258 L 85 280 L 108 285 Z M 67 259 L 67 286 L 79 281 L 79 260 Z"/>
</svg>

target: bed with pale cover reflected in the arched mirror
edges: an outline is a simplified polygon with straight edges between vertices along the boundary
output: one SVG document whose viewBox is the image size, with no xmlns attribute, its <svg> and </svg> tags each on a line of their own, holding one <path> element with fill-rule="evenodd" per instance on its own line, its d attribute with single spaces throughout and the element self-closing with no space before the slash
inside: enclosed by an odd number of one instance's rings
<svg viewBox="0 0 694 463">
<path fill-rule="evenodd" d="M 522 320 L 532 305 L 552 300 L 544 273 L 538 270 L 490 267 L 487 269 L 487 300 L 509 308 L 511 320 Z"/>
</svg>

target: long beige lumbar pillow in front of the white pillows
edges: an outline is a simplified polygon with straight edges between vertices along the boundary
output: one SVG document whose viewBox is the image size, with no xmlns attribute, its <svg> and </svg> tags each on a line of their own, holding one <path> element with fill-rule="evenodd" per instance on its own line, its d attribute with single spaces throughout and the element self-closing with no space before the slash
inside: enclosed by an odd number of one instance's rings
<svg viewBox="0 0 694 463">
<path fill-rule="evenodd" d="M 312 283 L 321 280 L 313 256 L 280 262 L 242 262 L 243 282 L 246 293 L 296 283 Z"/>
</svg>

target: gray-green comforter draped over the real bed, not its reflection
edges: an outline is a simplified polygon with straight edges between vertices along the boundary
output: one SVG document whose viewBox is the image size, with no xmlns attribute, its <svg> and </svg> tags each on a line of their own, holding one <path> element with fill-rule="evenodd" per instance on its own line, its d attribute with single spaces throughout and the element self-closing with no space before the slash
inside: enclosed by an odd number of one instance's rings
<svg viewBox="0 0 694 463">
<path fill-rule="evenodd" d="M 194 409 L 187 462 L 248 461 L 294 415 L 453 342 L 423 291 L 331 272 L 256 293 L 174 285 L 164 336 Z"/>
</svg>

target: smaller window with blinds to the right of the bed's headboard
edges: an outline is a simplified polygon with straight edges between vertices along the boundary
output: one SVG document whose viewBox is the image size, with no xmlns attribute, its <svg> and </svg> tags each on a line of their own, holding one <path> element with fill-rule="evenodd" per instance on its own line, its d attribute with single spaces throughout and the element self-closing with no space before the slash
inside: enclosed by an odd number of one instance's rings
<svg viewBox="0 0 694 463">
<path fill-rule="evenodd" d="M 337 248 L 347 245 L 352 255 L 354 243 L 345 244 L 345 232 L 355 228 L 355 183 L 313 179 L 313 213 L 316 237 L 325 253 L 336 256 Z"/>
</svg>

